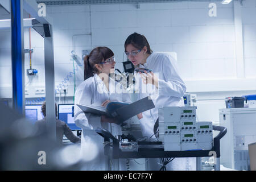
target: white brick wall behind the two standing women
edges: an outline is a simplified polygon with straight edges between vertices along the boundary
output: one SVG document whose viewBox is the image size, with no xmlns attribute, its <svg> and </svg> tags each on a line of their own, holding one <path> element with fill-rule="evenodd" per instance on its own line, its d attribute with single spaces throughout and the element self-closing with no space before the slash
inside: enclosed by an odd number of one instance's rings
<svg viewBox="0 0 256 182">
<path fill-rule="evenodd" d="M 144 34 L 153 51 L 175 51 L 180 75 L 187 84 L 187 92 L 197 94 L 200 120 L 218 120 L 218 109 L 225 107 L 224 98 L 254 94 L 256 90 L 256 5 L 245 0 L 242 6 L 242 30 L 245 78 L 237 78 L 236 32 L 233 3 L 216 2 L 217 17 L 209 17 L 209 2 L 144 3 L 136 5 L 69 5 L 47 6 L 47 15 L 53 18 L 56 86 L 73 71 L 71 51 L 81 57 L 81 51 L 107 46 L 117 58 L 117 68 L 123 70 L 123 44 L 133 32 Z M 80 35 L 88 34 L 92 35 Z M 0 30 L 1 85 L 11 84 L 10 42 Z M 28 32 L 24 32 L 28 48 Z M 7 34 L 8 35 L 8 34 Z M 9 35 L 10 36 L 10 35 Z M 2 41 L 5 38 L 5 41 Z M 73 44 L 73 40 L 74 43 Z M 32 95 L 35 85 L 44 86 L 43 39 L 32 31 L 32 67 L 38 76 L 27 84 Z M 4 52 L 4 53 L 3 53 Z M 4 57 L 4 59 L 2 58 Z M 26 69 L 28 54 L 26 54 Z M 80 67 L 79 67 L 80 68 Z M 83 80 L 79 69 L 76 84 Z M 68 95 L 73 95 L 73 76 L 67 81 Z M 26 76 L 26 83 L 28 78 Z M 221 92 L 220 92 L 221 91 Z M 214 100 L 215 98 L 220 100 Z M 201 109 L 200 109 L 201 106 Z M 214 107 L 214 108 L 213 108 Z M 211 109 L 214 109 L 211 112 Z M 208 113 L 207 113 L 208 111 Z M 214 113 L 214 114 L 213 114 Z"/>
</svg>

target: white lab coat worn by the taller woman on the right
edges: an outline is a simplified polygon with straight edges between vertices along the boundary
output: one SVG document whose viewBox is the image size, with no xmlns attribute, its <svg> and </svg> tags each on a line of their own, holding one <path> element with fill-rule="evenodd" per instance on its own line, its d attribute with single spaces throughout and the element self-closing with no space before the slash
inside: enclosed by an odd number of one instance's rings
<svg viewBox="0 0 256 182">
<path fill-rule="evenodd" d="M 139 68 L 148 68 L 158 76 L 158 89 L 154 85 L 143 84 L 139 73 L 135 73 L 135 79 L 139 84 L 138 99 L 151 96 L 155 108 L 144 111 L 141 121 L 143 137 L 155 138 L 154 125 L 158 119 L 158 109 L 164 106 L 184 106 L 183 96 L 186 92 L 186 86 L 179 76 L 176 60 L 168 53 L 152 53 L 147 57 L 144 65 L 139 64 Z M 145 92 L 146 90 L 146 92 Z M 167 166 L 168 170 L 192 170 L 195 169 L 194 159 L 178 158 L 172 160 Z M 148 170 L 159 170 L 158 159 L 148 160 Z M 186 164 L 186 165 L 184 165 Z"/>
</svg>

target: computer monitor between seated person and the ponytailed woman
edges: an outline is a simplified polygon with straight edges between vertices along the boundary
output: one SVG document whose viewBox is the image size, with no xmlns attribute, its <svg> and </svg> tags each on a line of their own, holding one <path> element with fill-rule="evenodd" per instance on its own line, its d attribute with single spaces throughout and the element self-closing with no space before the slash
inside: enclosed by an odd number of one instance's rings
<svg viewBox="0 0 256 182">
<path fill-rule="evenodd" d="M 71 130 L 81 130 L 74 122 L 74 104 L 59 104 L 58 118 L 68 124 Z"/>
</svg>

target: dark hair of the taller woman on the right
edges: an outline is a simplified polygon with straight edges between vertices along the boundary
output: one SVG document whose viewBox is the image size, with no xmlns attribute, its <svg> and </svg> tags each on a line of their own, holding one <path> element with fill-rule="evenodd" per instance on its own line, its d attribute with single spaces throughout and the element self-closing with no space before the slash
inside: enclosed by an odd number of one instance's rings
<svg viewBox="0 0 256 182">
<path fill-rule="evenodd" d="M 147 53 L 151 54 L 153 51 L 150 49 L 150 44 L 147 42 L 147 39 L 144 35 L 138 34 L 134 32 L 133 34 L 129 35 L 128 38 L 125 40 L 125 48 L 129 44 L 133 45 L 138 49 L 142 49 L 144 46 L 147 47 Z"/>
</svg>

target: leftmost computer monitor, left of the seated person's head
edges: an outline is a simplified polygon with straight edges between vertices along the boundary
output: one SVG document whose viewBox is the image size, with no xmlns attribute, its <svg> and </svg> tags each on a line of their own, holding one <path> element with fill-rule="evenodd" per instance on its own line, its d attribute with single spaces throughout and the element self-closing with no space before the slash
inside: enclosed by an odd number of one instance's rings
<svg viewBox="0 0 256 182">
<path fill-rule="evenodd" d="M 25 115 L 26 118 L 30 119 L 32 122 L 43 119 L 44 115 L 42 113 L 42 105 L 26 105 Z"/>
</svg>

